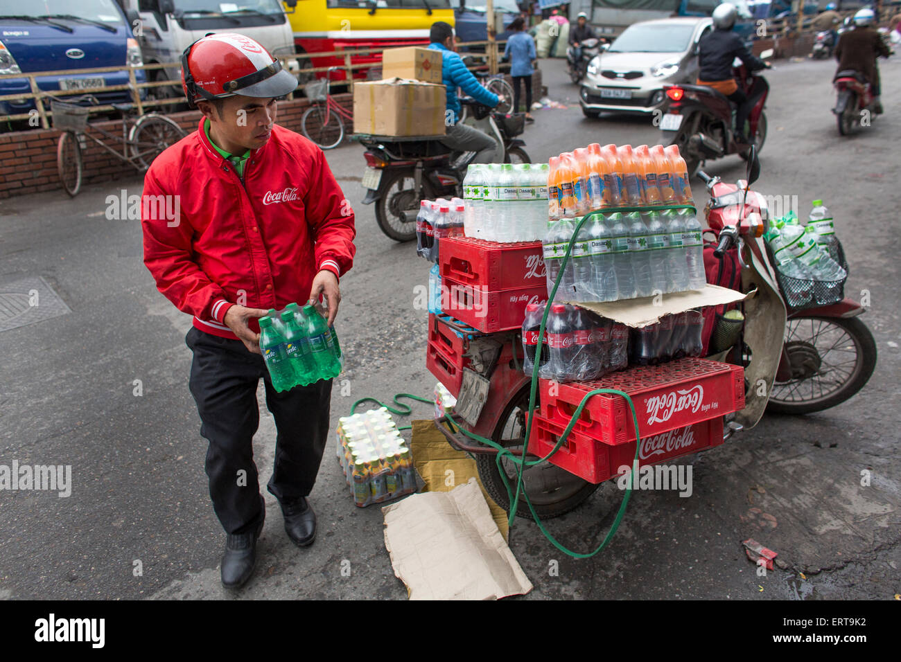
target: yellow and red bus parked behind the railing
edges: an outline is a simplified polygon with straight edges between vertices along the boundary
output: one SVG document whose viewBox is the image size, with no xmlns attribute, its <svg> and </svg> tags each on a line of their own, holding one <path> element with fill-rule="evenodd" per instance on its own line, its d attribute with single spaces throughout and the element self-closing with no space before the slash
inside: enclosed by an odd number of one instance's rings
<svg viewBox="0 0 901 662">
<path fill-rule="evenodd" d="M 432 23 L 454 24 L 450 0 L 296 0 L 283 5 L 297 52 L 310 54 L 308 62 L 301 60 L 301 68 L 344 66 L 341 56 L 316 58 L 317 52 L 427 44 Z M 376 64 L 381 59 L 380 53 L 355 55 L 351 63 Z M 336 73 L 333 79 L 344 78 L 343 71 Z M 367 68 L 354 69 L 353 75 L 365 78 Z"/>
</svg>

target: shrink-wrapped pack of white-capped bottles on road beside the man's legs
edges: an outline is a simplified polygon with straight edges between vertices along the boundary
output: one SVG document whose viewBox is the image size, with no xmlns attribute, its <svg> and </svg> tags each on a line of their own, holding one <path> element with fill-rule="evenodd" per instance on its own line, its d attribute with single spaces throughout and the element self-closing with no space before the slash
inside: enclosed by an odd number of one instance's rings
<svg viewBox="0 0 901 662">
<path fill-rule="evenodd" d="M 360 508 L 416 491 L 413 456 L 385 407 L 338 419 L 336 452 Z"/>
</svg>

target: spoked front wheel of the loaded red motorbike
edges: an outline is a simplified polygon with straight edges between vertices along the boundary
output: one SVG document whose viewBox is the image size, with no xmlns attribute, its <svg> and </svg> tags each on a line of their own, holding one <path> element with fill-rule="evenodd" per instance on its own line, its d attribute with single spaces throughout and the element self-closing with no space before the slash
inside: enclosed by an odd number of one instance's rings
<svg viewBox="0 0 901 662">
<path fill-rule="evenodd" d="M 856 317 L 793 317 L 786 324 L 786 349 L 792 376 L 773 384 L 768 412 L 814 413 L 842 404 L 876 367 L 876 341 Z"/>
</svg>

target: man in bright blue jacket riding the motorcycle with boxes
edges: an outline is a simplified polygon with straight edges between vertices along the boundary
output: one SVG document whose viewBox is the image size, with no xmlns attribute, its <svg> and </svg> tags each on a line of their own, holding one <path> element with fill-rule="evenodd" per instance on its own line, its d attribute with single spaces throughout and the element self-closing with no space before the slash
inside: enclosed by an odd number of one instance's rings
<svg viewBox="0 0 901 662">
<path fill-rule="evenodd" d="M 479 104 L 494 108 L 500 99 L 493 92 L 479 85 L 478 79 L 463 64 L 455 50 L 453 41 L 453 28 L 449 23 L 438 21 L 432 23 L 429 31 L 430 50 L 441 51 L 441 82 L 447 86 L 447 111 L 445 122 L 447 134 L 441 139 L 441 144 L 450 147 L 451 150 L 477 152 L 472 163 L 490 163 L 497 143 L 494 138 L 484 131 L 478 131 L 475 127 L 458 122 L 460 119 L 460 99 L 457 97 L 457 88 L 473 97 Z"/>
</svg>

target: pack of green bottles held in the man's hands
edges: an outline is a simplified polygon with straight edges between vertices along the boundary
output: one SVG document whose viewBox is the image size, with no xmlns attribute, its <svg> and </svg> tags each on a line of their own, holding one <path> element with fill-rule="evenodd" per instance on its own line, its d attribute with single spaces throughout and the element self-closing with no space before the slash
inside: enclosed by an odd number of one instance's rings
<svg viewBox="0 0 901 662">
<path fill-rule="evenodd" d="M 338 334 L 311 304 L 287 304 L 260 317 L 259 349 L 279 393 L 341 372 Z"/>
</svg>

